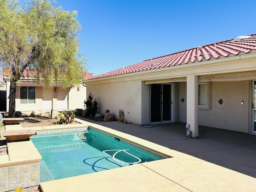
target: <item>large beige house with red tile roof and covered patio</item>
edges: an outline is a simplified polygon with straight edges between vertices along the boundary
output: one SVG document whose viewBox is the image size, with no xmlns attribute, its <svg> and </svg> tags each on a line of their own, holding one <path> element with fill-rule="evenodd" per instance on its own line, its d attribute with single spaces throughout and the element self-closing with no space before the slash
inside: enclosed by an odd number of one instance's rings
<svg viewBox="0 0 256 192">
<path fill-rule="evenodd" d="M 144 60 L 86 80 L 98 112 L 256 134 L 256 34 Z M 186 130 L 186 128 L 185 128 Z M 190 132 L 188 132 L 190 133 Z"/>
</svg>

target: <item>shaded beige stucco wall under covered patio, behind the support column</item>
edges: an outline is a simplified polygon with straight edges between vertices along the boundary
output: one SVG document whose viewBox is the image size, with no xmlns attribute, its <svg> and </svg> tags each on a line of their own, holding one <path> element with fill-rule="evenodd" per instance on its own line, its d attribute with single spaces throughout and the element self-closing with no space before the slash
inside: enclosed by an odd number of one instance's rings
<svg viewBox="0 0 256 192">
<path fill-rule="evenodd" d="M 198 124 L 239 132 L 250 132 L 250 81 L 208 82 L 207 106 L 198 107 Z M 212 95 L 210 94 L 212 89 Z M 180 122 L 186 123 L 186 82 L 180 83 Z M 220 105 L 218 100 L 224 103 Z M 244 101 L 242 105 L 241 102 Z"/>
</svg>

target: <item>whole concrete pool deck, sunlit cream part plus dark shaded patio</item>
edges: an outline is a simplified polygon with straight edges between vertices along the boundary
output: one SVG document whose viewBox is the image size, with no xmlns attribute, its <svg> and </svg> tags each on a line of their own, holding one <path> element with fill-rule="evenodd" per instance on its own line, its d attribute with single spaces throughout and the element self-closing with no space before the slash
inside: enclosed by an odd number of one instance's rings
<svg viewBox="0 0 256 192">
<path fill-rule="evenodd" d="M 165 124 L 145 128 L 118 121 L 76 120 L 84 123 L 80 127 L 89 125 L 99 128 L 120 138 L 128 138 L 132 142 L 168 154 L 172 158 L 43 182 L 40 183 L 43 192 L 256 191 L 255 135 L 200 128 L 200 138 L 189 139 L 186 138 L 184 124 Z M 6 129 L 9 128 L 12 129 L 11 126 Z M 17 128 L 18 126 L 15 127 Z M 54 126 L 51 129 L 56 128 L 57 126 Z M 47 130 L 48 127 L 35 129 Z M 237 170 L 223 167 L 226 164 Z M 238 172 L 239 170 L 241 171 Z"/>
</svg>

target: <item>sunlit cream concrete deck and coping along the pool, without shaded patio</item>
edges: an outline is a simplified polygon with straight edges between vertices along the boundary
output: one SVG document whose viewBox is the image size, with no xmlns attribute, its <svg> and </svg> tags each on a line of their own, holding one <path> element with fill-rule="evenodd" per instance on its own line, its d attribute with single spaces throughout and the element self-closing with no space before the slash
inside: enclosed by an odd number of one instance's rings
<svg viewBox="0 0 256 192">
<path fill-rule="evenodd" d="M 172 158 L 42 182 L 40 183 L 42 192 L 256 191 L 256 185 L 253 185 L 256 179 L 253 177 L 98 124 L 83 120 L 78 121 L 82 123 L 80 127 L 90 126 Z M 37 127 L 36 130 L 58 128 L 60 127 Z"/>
</svg>

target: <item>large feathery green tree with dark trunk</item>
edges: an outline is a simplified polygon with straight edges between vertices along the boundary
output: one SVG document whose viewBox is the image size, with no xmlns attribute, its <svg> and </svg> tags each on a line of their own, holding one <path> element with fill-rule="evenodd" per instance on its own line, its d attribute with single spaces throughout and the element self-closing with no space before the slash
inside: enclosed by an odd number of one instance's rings
<svg viewBox="0 0 256 192">
<path fill-rule="evenodd" d="M 15 114 L 15 93 L 26 68 L 50 86 L 64 88 L 83 78 L 85 59 L 79 53 L 80 24 L 76 11 L 55 6 L 54 0 L 0 0 L 0 68 L 10 70 L 9 117 Z"/>
</svg>

